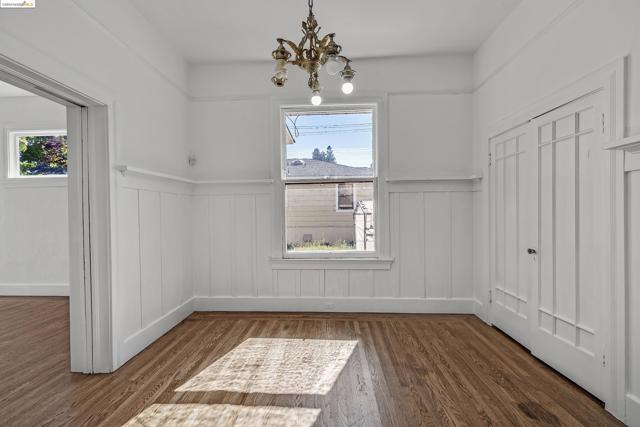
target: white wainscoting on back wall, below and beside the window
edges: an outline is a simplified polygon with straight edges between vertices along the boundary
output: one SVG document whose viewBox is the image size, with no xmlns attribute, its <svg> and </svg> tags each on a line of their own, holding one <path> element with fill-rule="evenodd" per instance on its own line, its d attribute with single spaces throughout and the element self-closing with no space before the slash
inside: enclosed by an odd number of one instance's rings
<svg viewBox="0 0 640 427">
<path fill-rule="evenodd" d="M 271 186 L 199 188 L 192 203 L 196 309 L 472 312 L 472 188 L 398 188 L 390 196 L 390 270 L 272 264 Z"/>
</svg>

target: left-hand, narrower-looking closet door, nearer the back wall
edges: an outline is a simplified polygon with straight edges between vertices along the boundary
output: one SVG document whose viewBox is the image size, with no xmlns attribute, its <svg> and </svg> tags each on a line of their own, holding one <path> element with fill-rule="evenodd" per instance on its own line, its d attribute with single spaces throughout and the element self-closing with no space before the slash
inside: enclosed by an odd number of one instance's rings
<svg viewBox="0 0 640 427">
<path fill-rule="evenodd" d="M 531 154 L 528 123 L 491 139 L 491 322 L 529 346 Z"/>
</svg>

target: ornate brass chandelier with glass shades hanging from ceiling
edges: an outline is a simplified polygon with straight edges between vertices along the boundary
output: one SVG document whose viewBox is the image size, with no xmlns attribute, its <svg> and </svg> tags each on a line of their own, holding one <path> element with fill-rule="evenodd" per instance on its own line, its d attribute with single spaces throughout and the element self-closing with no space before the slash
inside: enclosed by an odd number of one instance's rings
<svg viewBox="0 0 640 427">
<path fill-rule="evenodd" d="M 351 68 L 351 60 L 340 55 L 342 46 L 337 44 L 333 38 L 335 33 L 327 34 L 320 38 L 320 27 L 313 16 L 313 0 L 309 2 L 309 16 L 302 22 L 302 33 L 304 36 L 300 43 L 278 38 L 278 47 L 271 53 L 276 61 L 276 69 L 271 81 L 277 87 L 282 87 L 287 81 L 287 64 L 296 65 L 309 73 L 309 89 L 311 89 L 311 103 L 313 105 L 322 104 L 320 96 L 320 81 L 318 72 L 324 66 L 329 75 L 334 76 L 340 73 L 342 77 L 342 92 L 346 95 L 353 92 L 353 77 L 355 71 Z M 294 59 L 290 60 L 292 53 L 287 50 L 285 44 L 293 52 Z"/>
</svg>

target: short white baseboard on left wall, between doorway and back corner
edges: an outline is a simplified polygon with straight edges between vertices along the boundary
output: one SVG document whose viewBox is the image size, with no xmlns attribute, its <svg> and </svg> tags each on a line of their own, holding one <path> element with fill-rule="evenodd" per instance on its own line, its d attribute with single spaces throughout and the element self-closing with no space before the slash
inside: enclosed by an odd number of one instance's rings
<svg viewBox="0 0 640 427">
<path fill-rule="evenodd" d="M 119 357 L 115 369 L 124 365 L 133 356 L 140 353 L 155 340 L 169 332 L 191 313 L 193 313 L 193 298 L 188 299 L 182 305 L 179 305 L 138 332 L 125 338 L 124 342 L 120 346 Z"/>
</svg>

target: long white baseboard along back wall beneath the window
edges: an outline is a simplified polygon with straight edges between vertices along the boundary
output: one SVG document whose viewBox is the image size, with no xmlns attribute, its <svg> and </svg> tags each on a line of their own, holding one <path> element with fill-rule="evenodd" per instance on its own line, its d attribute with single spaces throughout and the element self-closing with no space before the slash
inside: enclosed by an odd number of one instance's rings
<svg viewBox="0 0 640 427">
<path fill-rule="evenodd" d="M 474 314 L 471 298 L 194 297 L 195 311 Z"/>
</svg>

